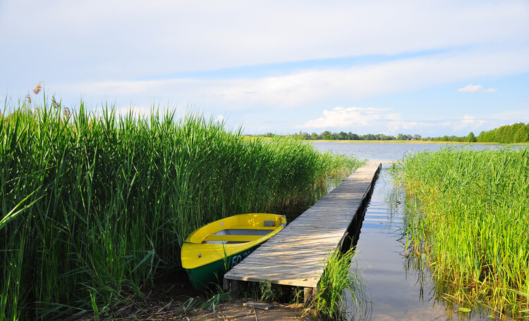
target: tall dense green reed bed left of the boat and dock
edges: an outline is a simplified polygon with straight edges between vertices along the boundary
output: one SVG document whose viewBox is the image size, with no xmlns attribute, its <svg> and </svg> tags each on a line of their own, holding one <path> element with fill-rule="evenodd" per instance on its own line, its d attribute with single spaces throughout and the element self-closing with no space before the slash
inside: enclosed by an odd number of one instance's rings
<svg viewBox="0 0 529 321">
<path fill-rule="evenodd" d="M 0 115 L 0 321 L 109 313 L 180 267 L 197 227 L 309 206 L 360 165 L 200 114 L 19 101 Z"/>
</svg>

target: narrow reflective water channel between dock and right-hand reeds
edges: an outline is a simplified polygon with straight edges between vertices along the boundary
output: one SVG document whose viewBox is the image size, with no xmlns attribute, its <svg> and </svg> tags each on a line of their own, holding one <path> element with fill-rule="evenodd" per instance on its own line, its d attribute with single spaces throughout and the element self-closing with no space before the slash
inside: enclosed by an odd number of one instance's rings
<svg viewBox="0 0 529 321">
<path fill-rule="evenodd" d="M 491 312 L 477 303 L 451 303 L 453 290 L 436 281 L 425 256 L 406 246 L 405 200 L 385 165 L 353 239 L 358 245 L 351 272 L 363 272 L 372 305 L 360 313 L 348 306 L 348 320 L 490 320 Z"/>
</svg>

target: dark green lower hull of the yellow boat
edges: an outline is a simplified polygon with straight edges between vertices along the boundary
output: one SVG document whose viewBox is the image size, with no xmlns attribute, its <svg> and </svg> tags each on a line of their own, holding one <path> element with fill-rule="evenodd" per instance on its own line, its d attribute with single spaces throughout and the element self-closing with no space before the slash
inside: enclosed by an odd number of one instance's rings
<svg viewBox="0 0 529 321">
<path fill-rule="evenodd" d="M 226 258 L 220 258 L 212 263 L 186 269 L 191 285 L 198 291 L 214 289 L 215 285 L 220 284 L 224 278 L 224 273 L 231 270 L 232 267 L 241 262 L 250 253 L 255 251 L 261 244 L 246 248 L 244 251 L 234 253 Z"/>
</svg>

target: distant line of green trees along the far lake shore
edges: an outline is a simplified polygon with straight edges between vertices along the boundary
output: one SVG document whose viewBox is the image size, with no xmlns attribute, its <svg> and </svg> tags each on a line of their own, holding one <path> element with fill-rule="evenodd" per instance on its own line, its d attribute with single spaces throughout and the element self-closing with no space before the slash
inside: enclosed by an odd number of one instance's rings
<svg viewBox="0 0 529 321">
<path fill-rule="evenodd" d="M 379 140 L 379 141 L 388 141 L 388 140 L 423 140 L 423 141 L 458 141 L 458 142 L 469 142 L 474 143 L 476 141 L 480 143 L 499 143 L 499 144 L 513 144 L 513 143 L 529 143 L 529 123 L 524 124 L 523 122 L 518 122 L 513 125 L 506 125 L 495 128 L 494 130 L 489 130 L 486 132 L 481 132 L 478 137 L 475 136 L 473 132 L 470 132 L 467 136 L 447 136 L 442 137 L 427 137 L 423 138 L 420 134 L 397 134 L 397 136 L 385 135 L 385 134 L 353 134 L 352 132 L 330 132 L 325 130 L 320 134 L 312 132 L 298 132 L 298 134 L 286 134 L 286 135 L 276 135 L 271 132 L 262 135 L 256 135 L 262 137 L 276 137 L 284 136 L 294 139 L 304 139 L 304 140 Z"/>
</svg>

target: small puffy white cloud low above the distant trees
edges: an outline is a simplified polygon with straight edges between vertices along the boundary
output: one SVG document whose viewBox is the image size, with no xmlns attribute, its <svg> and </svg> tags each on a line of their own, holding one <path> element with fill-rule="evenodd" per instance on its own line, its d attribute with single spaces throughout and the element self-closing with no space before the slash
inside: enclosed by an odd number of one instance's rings
<svg viewBox="0 0 529 321">
<path fill-rule="evenodd" d="M 325 109 L 322 117 L 308 120 L 303 125 L 296 125 L 296 128 L 370 126 L 373 122 L 379 120 L 399 118 L 398 114 L 387 113 L 387 111 L 389 111 L 389 109 L 386 108 L 358 107 L 336 107 L 330 111 Z"/>
</svg>

